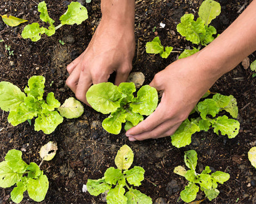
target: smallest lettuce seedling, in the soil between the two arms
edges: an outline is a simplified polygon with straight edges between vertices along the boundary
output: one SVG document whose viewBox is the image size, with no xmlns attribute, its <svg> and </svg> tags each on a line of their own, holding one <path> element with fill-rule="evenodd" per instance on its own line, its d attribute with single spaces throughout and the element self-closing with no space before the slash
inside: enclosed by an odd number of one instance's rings
<svg viewBox="0 0 256 204">
<path fill-rule="evenodd" d="M 146 53 L 150 54 L 159 54 L 162 58 L 167 58 L 171 52 L 173 47 L 162 46 L 159 37 L 155 37 L 152 41 L 146 44 Z"/>
</svg>

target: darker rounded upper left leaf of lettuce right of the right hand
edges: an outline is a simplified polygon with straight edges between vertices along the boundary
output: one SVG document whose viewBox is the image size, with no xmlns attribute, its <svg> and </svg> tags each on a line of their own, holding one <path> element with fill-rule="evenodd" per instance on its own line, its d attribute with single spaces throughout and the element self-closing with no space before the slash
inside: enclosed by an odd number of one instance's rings
<svg viewBox="0 0 256 204">
<path fill-rule="evenodd" d="M 211 98 L 207 98 L 204 101 L 199 102 L 197 104 L 197 109 L 204 120 L 206 120 L 206 115 L 215 117 L 220 111 L 220 108 L 217 106 L 217 102 Z"/>
</svg>

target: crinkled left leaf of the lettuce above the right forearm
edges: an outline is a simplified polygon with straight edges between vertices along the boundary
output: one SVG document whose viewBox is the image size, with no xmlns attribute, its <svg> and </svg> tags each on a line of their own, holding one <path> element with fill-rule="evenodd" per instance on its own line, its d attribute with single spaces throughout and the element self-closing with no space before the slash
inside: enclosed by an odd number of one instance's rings
<svg viewBox="0 0 256 204">
<path fill-rule="evenodd" d="M 204 21 L 198 18 L 194 21 L 193 14 L 185 14 L 181 17 L 181 23 L 177 25 L 177 31 L 180 35 L 194 44 L 201 43 L 199 34 L 205 35 Z"/>
</svg>

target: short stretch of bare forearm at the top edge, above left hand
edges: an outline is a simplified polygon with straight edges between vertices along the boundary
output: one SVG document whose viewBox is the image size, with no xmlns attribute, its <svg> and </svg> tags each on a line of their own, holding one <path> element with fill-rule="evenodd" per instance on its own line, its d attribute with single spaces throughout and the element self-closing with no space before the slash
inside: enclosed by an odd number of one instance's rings
<svg viewBox="0 0 256 204">
<path fill-rule="evenodd" d="M 134 0 L 102 0 L 101 12 L 102 20 L 134 29 Z"/>
</svg>

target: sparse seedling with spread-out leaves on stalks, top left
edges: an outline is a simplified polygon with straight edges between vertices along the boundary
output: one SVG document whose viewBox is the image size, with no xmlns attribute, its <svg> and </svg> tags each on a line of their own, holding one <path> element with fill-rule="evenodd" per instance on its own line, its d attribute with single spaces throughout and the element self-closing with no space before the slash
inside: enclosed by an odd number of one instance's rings
<svg viewBox="0 0 256 204">
<path fill-rule="evenodd" d="M 39 23 L 32 23 L 27 25 L 21 33 L 23 38 L 30 38 L 32 41 L 38 41 L 41 39 L 41 35 L 45 33 L 47 36 L 54 35 L 55 31 L 62 27 L 62 25 L 68 24 L 81 24 L 84 20 L 88 18 L 87 10 L 79 2 L 71 2 L 68 5 L 68 10 L 60 16 L 60 24 L 55 27 L 53 24 L 55 21 L 50 18 L 45 2 L 40 2 L 38 4 L 38 12 L 40 12 L 40 19 L 43 22 L 49 23 L 48 28 L 40 27 Z"/>
</svg>

